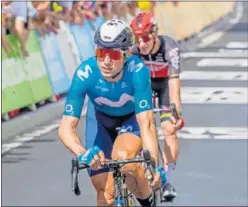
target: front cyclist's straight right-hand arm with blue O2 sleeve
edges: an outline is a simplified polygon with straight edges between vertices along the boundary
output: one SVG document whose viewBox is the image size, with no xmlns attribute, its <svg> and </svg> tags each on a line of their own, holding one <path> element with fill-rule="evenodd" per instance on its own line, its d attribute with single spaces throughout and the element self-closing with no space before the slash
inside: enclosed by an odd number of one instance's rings
<svg viewBox="0 0 248 207">
<path fill-rule="evenodd" d="M 144 63 L 140 64 L 143 64 L 142 68 L 136 70 L 133 75 L 135 112 L 140 127 L 143 149 L 147 149 L 151 152 L 151 156 L 157 166 L 158 140 L 152 111 L 150 71 Z"/>
</svg>

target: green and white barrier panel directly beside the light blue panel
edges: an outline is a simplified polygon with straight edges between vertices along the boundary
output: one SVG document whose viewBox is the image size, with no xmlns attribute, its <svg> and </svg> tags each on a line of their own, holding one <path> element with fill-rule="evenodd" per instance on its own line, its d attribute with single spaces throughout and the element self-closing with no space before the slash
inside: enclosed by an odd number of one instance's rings
<svg viewBox="0 0 248 207">
<path fill-rule="evenodd" d="M 24 71 L 29 80 L 32 98 L 35 103 L 52 97 L 52 88 L 46 73 L 35 31 L 31 31 L 27 41 L 28 57 L 22 60 Z"/>
</svg>

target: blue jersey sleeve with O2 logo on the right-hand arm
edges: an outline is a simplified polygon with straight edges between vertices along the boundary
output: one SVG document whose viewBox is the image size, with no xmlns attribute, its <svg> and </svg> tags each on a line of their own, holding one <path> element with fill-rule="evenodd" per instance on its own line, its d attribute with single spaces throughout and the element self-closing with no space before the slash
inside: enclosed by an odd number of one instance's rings
<svg viewBox="0 0 248 207">
<path fill-rule="evenodd" d="M 152 88 L 150 80 L 150 70 L 145 63 L 139 59 L 136 61 L 133 72 L 134 105 L 135 113 L 152 109 Z"/>
</svg>

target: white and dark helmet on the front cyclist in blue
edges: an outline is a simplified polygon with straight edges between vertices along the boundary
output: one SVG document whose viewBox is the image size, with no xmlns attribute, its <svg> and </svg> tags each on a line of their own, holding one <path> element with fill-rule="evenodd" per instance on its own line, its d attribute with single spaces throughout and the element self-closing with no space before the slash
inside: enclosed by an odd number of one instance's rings
<svg viewBox="0 0 248 207">
<path fill-rule="evenodd" d="M 134 43 L 132 29 L 119 19 L 107 20 L 96 31 L 94 42 L 98 47 L 127 50 Z"/>
</svg>

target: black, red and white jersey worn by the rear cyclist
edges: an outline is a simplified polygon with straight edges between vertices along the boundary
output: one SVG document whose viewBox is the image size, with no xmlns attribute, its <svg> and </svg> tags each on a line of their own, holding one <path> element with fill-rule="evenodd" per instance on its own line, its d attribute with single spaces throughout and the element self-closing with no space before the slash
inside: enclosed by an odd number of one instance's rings
<svg viewBox="0 0 248 207">
<path fill-rule="evenodd" d="M 180 50 L 177 42 L 169 36 L 158 36 L 161 45 L 155 54 L 142 55 L 134 46 L 133 54 L 144 60 L 151 70 L 152 78 L 166 78 L 170 74 L 180 73 Z"/>
</svg>

